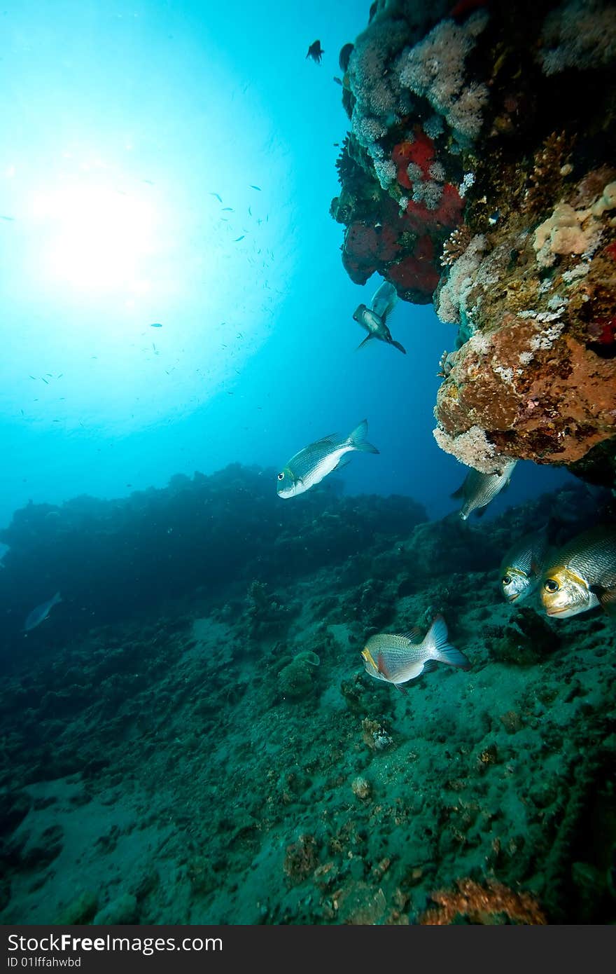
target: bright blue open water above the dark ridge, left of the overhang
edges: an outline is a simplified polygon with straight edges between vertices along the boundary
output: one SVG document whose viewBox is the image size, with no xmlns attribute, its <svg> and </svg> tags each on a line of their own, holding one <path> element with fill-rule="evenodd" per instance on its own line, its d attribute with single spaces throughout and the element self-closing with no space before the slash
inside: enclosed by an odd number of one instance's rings
<svg viewBox="0 0 616 974">
<path fill-rule="evenodd" d="M 328 212 L 338 52 L 366 19 L 358 0 L 5 5 L 0 524 L 29 500 L 278 468 L 364 417 L 381 456 L 345 489 L 454 509 L 465 471 L 432 437 L 454 329 L 405 305 L 406 357 L 355 353 L 380 279 L 348 280 Z M 564 478 L 521 464 L 489 513 Z"/>
</svg>

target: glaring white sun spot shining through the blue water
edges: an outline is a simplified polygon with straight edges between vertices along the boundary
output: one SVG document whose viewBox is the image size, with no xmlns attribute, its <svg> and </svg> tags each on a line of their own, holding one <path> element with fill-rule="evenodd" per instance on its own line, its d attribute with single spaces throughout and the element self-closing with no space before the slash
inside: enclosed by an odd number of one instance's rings
<svg viewBox="0 0 616 974">
<path fill-rule="evenodd" d="M 104 185 L 72 185 L 39 193 L 33 208 L 44 227 L 45 277 L 87 291 L 147 289 L 156 230 L 149 202 Z"/>
</svg>

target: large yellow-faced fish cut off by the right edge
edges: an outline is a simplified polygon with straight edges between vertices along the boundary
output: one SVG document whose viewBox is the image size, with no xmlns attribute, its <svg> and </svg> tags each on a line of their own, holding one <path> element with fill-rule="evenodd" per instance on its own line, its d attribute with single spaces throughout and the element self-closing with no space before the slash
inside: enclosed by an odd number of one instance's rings
<svg viewBox="0 0 616 974">
<path fill-rule="evenodd" d="M 557 551 L 541 579 L 541 601 L 558 618 L 598 605 L 616 615 L 616 527 L 584 531 Z"/>
</svg>

